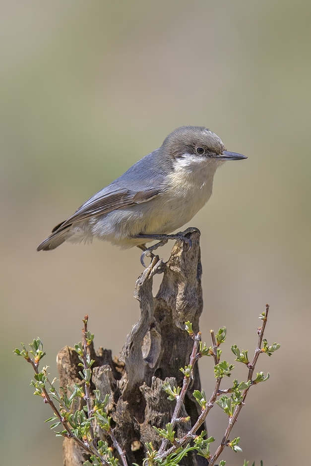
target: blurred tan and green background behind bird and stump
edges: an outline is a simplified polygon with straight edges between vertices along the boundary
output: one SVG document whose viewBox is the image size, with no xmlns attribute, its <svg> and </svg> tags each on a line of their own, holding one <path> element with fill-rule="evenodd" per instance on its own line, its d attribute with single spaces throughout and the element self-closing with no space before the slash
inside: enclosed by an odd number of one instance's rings
<svg viewBox="0 0 311 466">
<path fill-rule="evenodd" d="M 52 414 L 12 350 L 40 336 L 53 377 L 58 350 L 80 341 L 85 313 L 95 347 L 115 355 L 139 316 L 136 248 L 95 241 L 37 253 L 37 245 L 185 124 L 209 127 L 249 157 L 217 172 L 191 222 L 202 233 L 203 339 L 226 325 L 225 356 L 233 362 L 231 344 L 252 354 L 268 302 L 266 338 L 281 344 L 260 357 L 257 370 L 271 377 L 235 426 L 243 453 L 224 459 L 308 463 L 310 15 L 302 0 L 1 1 L 3 464 L 62 465 L 62 440 L 43 423 Z M 172 246 L 161 249 L 165 259 Z M 245 379 L 243 367 L 237 376 Z M 226 424 L 215 406 L 209 434 L 220 442 Z"/>
</svg>

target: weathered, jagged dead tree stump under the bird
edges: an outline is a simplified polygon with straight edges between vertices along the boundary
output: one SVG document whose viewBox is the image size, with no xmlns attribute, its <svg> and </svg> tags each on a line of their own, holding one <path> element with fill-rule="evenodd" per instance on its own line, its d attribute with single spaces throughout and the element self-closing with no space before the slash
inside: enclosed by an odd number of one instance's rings
<svg viewBox="0 0 311 466">
<path fill-rule="evenodd" d="M 95 353 L 90 347 L 95 359 L 92 389 L 100 390 L 102 397 L 110 395 L 108 413 L 129 464 L 142 464 L 145 442 L 159 448 L 161 439 L 153 426 L 163 428 L 170 422 L 175 406 L 162 389 L 163 383 L 182 385 L 180 368 L 189 363 L 193 347 L 184 330 L 185 322 L 192 322 L 195 333 L 199 329 L 203 308 L 199 234 L 191 233 L 190 238 L 190 249 L 183 241 L 176 241 L 166 263 L 155 256 L 138 278 L 134 297 L 139 301 L 140 318 L 127 335 L 120 360 L 113 359 L 110 350 L 100 348 Z M 163 273 L 163 280 L 153 297 L 153 276 L 158 273 Z M 63 348 L 57 361 L 62 387 L 81 383 L 79 361 L 73 349 Z M 181 416 L 190 416 L 190 421 L 177 425 L 177 437 L 182 437 L 200 414 L 192 396 L 194 390 L 200 389 L 196 364 L 181 412 Z M 103 432 L 100 435 L 109 442 Z M 64 439 L 63 459 L 64 466 L 82 466 L 87 457 L 73 440 Z M 208 462 L 191 452 L 183 464 L 203 466 Z"/>
</svg>

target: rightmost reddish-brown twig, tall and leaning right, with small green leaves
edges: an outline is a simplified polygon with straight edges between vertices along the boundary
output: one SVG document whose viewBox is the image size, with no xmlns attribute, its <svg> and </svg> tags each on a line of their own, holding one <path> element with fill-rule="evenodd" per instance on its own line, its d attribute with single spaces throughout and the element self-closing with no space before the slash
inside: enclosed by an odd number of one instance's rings
<svg viewBox="0 0 311 466">
<path fill-rule="evenodd" d="M 252 374 L 254 372 L 257 359 L 259 357 L 259 354 L 262 352 L 261 351 L 261 344 L 262 344 L 264 329 L 265 329 L 265 326 L 266 326 L 266 323 L 267 323 L 268 311 L 269 311 L 269 304 L 266 304 L 265 315 L 264 315 L 262 326 L 257 330 L 257 333 L 258 333 L 257 347 L 255 349 L 254 357 L 253 357 L 251 363 L 248 364 L 248 368 L 249 368 L 248 381 L 252 379 Z M 215 461 L 219 458 L 219 456 L 223 452 L 224 448 L 228 445 L 230 432 L 231 432 L 235 422 L 238 419 L 238 416 L 240 414 L 240 411 L 241 411 L 242 407 L 245 404 L 245 399 L 246 399 L 247 394 L 249 392 L 249 388 L 244 390 L 241 404 L 236 406 L 236 408 L 234 409 L 232 417 L 229 418 L 229 423 L 228 423 L 227 429 L 225 431 L 224 437 L 222 439 L 222 442 L 219 445 L 219 447 L 217 448 L 214 456 L 211 458 L 211 460 L 209 462 L 209 466 L 213 466 L 215 464 Z"/>
</svg>

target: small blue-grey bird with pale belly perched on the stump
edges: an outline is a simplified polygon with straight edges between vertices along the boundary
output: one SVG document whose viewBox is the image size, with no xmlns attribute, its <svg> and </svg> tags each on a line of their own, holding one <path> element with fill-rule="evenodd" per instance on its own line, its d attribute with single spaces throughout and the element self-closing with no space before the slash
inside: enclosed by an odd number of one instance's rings
<svg viewBox="0 0 311 466">
<path fill-rule="evenodd" d="M 144 257 L 169 239 L 182 239 L 191 247 L 182 228 L 206 204 L 212 194 L 218 167 L 228 160 L 247 159 L 228 152 L 213 131 L 204 126 L 181 126 L 158 149 L 143 157 L 101 191 L 90 197 L 61 222 L 37 250 L 55 249 L 64 241 L 91 242 L 93 238 L 130 248 Z M 147 247 L 146 243 L 159 242 Z"/>
</svg>

